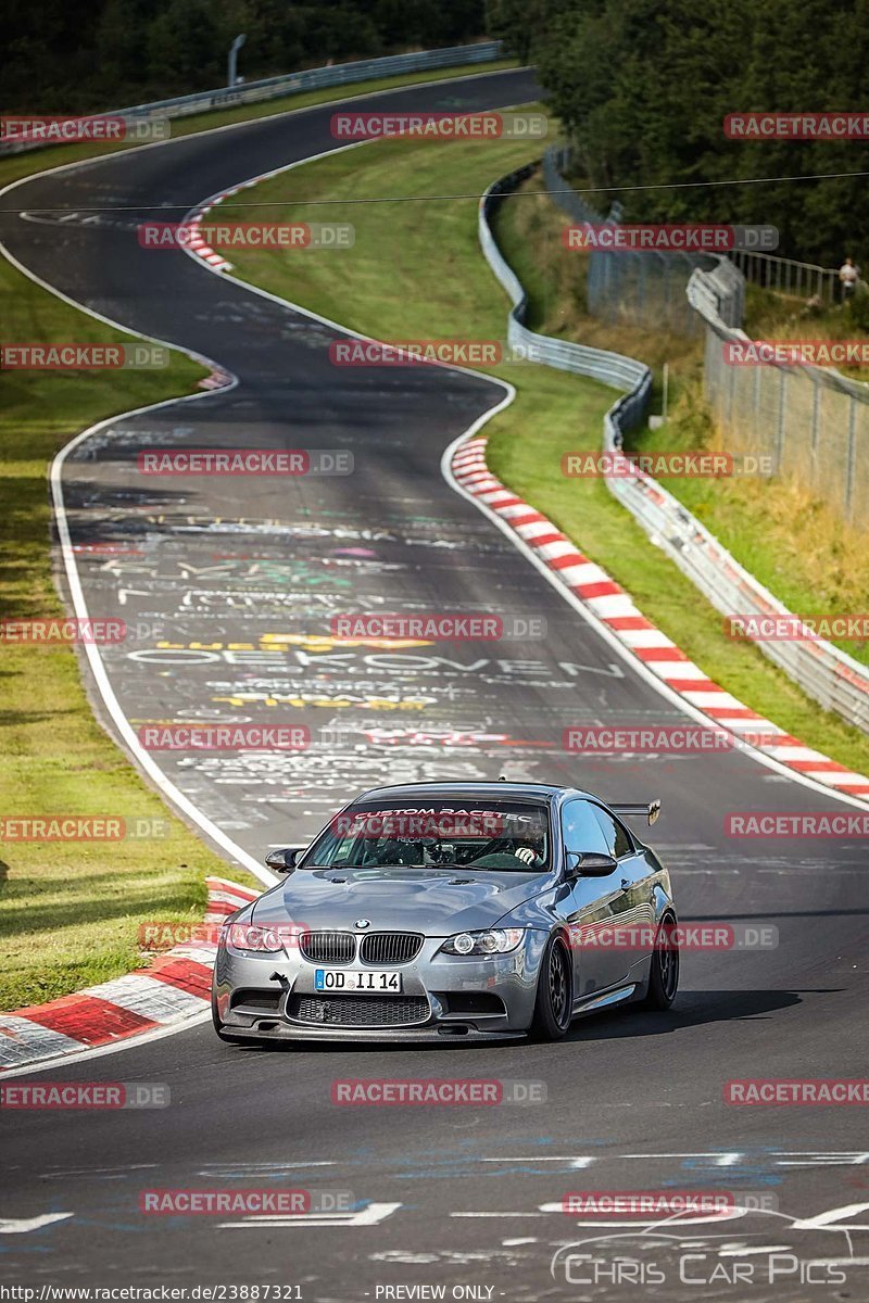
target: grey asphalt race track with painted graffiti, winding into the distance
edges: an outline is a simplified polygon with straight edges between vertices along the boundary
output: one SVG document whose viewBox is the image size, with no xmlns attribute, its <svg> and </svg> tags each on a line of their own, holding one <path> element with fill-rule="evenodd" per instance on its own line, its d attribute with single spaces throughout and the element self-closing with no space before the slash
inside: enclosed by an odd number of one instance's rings
<svg viewBox="0 0 869 1303">
<path fill-rule="evenodd" d="M 485 108 L 535 94 L 529 73 L 507 72 L 374 96 L 373 107 Z M 180 220 L 207 195 L 330 150 L 332 112 L 188 137 L 5 197 L 42 214 L 0 218 L 4 244 L 33 274 L 238 378 L 122 417 L 66 459 L 73 545 L 119 549 L 78 554 L 87 607 L 141 633 L 103 652 L 124 714 L 135 728 L 192 719 L 311 730 L 298 754 L 155 753 L 257 857 L 304 840 L 353 791 L 387 780 L 506 774 L 573 782 L 608 800 L 659 796 L 649 839 L 674 873 L 683 920 L 771 924 L 779 945 L 689 954 L 670 1014 L 588 1019 L 556 1045 L 262 1052 L 223 1045 L 199 1025 L 34 1074 L 163 1081 L 171 1106 L 0 1118 L 0 1274 L 36 1286 L 297 1285 L 305 1303 L 433 1296 L 404 1291 L 414 1286 L 483 1300 L 869 1298 L 860 1109 L 735 1108 L 722 1097 L 734 1078 L 865 1068 L 864 847 L 724 835 L 728 810 L 849 807 L 739 753 L 621 762 L 562 753 L 562 730 L 575 722 L 683 717 L 442 477 L 444 448 L 502 401 L 502 387 L 425 367 L 336 369 L 332 327 L 184 253 L 137 242 L 134 227 L 155 206 Z M 377 145 L 357 151 L 360 168 L 366 149 Z M 125 211 L 89 220 L 85 210 L 100 206 Z M 66 210 L 63 223 L 52 208 Z M 436 232 L 436 210 L 421 220 Z M 341 450 L 354 470 L 143 477 L 137 453 L 154 447 Z M 542 619 L 546 637 L 406 650 L 311 641 L 337 611 L 378 609 Z M 335 1079 L 373 1076 L 537 1081 L 546 1102 L 331 1102 Z M 138 1210 L 146 1187 L 280 1184 L 350 1192 L 352 1210 L 266 1221 Z M 663 1226 L 638 1247 L 642 1226 L 577 1225 L 560 1210 L 575 1190 L 664 1187 L 771 1196 L 778 1216 Z M 810 1225 L 843 1208 L 827 1218 L 833 1229 Z M 560 1247 L 601 1235 L 624 1235 L 645 1276 L 591 1285 L 590 1268 L 576 1257 L 565 1268 L 564 1253 L 551 1269 Z M 838 1283 L 838 1259 L 864 1265 Z M 737 1267 L 754 1282 L 735 1283 Z M 680 1283 L 680 1268 L 693 1283 Z"/>
</svg>

